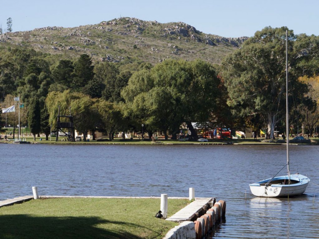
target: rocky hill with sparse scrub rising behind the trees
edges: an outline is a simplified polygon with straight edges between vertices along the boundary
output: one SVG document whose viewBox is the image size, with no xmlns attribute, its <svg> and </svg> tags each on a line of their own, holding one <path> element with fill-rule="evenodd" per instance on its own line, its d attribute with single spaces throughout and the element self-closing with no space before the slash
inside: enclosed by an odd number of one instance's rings
<svg viewBox="0 0 319 239">
<path fill-rule="evenodd" d="M 4 33 L 0 35 L 0 46 L 28 46 L 72 57 L 86 53 L 95 61 L 139 59 L 155 64 L 166 58 L 200 58 L 219 64 L 246 39 L 205 34 L 182 22 L 161 24 L 122 17 L 74 28 L 53 26 Z"/>
</svg>

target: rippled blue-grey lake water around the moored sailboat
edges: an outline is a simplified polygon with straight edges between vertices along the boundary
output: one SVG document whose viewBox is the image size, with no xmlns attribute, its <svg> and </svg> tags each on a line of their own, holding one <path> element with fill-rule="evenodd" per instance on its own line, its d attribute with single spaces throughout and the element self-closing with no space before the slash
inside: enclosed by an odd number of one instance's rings
<svg viewBox="0 0 319 239">
<path fill-rule="evenodd" d="M 286 146 L 1 144 L 0 200 L 32 195 L 156 196 L 226 200 L 212 238 L 319 238 L 318 146 L 290 146 L 304 195 L 254 197 L 249 184 L 286 163 Z M 280 174 L 286 174 L 286 169 Z"/>
</svg>

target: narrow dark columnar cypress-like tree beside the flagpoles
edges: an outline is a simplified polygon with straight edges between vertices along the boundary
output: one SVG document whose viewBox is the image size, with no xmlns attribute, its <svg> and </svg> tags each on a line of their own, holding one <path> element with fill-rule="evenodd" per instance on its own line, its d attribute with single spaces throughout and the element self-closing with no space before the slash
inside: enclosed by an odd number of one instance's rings
<svg viewBox="0 0 319 239">
<path fill-rule="evenodd" d="M 28 105 L 28 125 L 35 140 L 36 134 L 39 134 L 41 129 L 41 110 L 37 98 L 32 98 Z"/>
</svg>

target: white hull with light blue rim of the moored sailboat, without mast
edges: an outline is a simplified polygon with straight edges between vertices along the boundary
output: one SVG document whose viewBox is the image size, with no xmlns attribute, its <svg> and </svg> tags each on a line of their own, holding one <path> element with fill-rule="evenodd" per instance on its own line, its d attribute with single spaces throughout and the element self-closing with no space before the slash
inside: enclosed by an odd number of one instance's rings
<svg viewBox="0 0 319 239">
<path fill-rule="evenodd" d="M 285 184 L 289 178 L 293 183 Z M 257 197 L 284 198 L 297 196 L 306 191 L 310 179 L 301 174 L 292 174 L 290 177 L 288 175 L 274 177 L 268 184 L 269 181 L 270 178 L 250 184 L 250 191 Z"/>
</svg>

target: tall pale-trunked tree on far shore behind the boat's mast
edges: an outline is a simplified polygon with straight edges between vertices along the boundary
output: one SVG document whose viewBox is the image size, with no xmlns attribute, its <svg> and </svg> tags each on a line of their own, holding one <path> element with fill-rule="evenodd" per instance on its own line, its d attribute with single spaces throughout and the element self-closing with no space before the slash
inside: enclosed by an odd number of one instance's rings
<svg viewBox="0 0 319 239">
<path fill-rule="evenodd" d="M 286 30 L 265 27 L 222 62 L 222 76 L 229 93 L 227 104 L 242 118 L 263 116 L 266 139 L 274 138 L 275 126 L 285 115 Z M 291 30 L 288 40 L 289 71 L 293 72 L 303 57 L 293 47 L 296 37 Z M 298 90 L 294 97 L 302 98 L 307 87 L 298 83 L 297 78 L 298 75 L 290 74 L 289 86 L 294 89 L 290 96 Z"/>
</svg>

